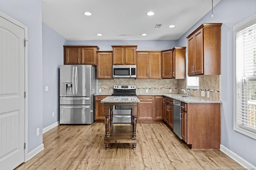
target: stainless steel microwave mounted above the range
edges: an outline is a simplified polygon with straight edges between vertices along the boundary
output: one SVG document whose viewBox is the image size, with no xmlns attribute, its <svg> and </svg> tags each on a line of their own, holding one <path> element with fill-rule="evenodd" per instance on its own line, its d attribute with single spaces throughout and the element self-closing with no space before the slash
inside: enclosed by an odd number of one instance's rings
<svg viewBox="0 0 256 170">
<path fill-rule="evenodd" d="M 113 78 L 136 78 L 136 65 L 113 65 Z"/>
</svg>

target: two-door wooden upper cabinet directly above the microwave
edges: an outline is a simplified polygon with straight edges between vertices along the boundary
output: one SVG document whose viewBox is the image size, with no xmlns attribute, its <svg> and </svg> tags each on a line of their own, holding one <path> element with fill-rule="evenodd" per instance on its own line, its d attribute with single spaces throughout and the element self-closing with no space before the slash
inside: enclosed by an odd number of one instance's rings
<svg viewBox="0 0 256 170">
<path fill-rule="evenodd" d="M 115 65 L 134 65 L 136 64 L 137 45 L 118 45 L 113 46 L 113 64 Z"/>
</svg>

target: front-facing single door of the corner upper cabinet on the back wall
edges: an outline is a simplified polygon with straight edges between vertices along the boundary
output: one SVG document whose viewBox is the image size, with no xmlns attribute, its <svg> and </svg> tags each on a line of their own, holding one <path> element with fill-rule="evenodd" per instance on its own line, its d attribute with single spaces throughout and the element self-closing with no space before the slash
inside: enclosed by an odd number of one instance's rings
<svg viewBox="0 0 256 170">
<path fill-rule="evenodd" d="M 162 53 L 162 78 L 172 78 L 172 51 Z"/>
</svg>

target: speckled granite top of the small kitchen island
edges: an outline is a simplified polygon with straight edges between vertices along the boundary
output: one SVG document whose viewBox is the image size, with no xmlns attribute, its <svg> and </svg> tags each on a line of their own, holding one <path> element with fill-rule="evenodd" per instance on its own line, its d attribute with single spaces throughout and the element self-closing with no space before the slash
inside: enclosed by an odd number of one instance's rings
<svg viewBox="0 0 256 170">
<path fill-rule="evenodd" d="M 102 103 L 138 103 L 140 100 L 136 96 L 108 96 L 101 100 Z"/>
</svg>

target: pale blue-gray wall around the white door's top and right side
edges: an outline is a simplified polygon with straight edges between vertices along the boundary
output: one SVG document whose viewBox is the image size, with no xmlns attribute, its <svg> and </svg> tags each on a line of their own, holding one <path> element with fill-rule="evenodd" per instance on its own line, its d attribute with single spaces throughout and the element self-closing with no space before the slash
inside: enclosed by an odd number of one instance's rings
<svg viewBox="0 0 256 170">
<path fill-rule="evenodd" d="M 0 10 L 28 27 L 28 152 L 42 144 L 42 1 L 0 0 Z M 36 136 L 36 129 L 40 135 Z"/>
</svg>

